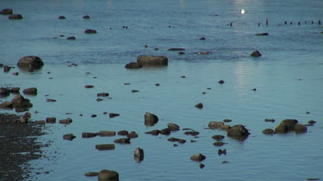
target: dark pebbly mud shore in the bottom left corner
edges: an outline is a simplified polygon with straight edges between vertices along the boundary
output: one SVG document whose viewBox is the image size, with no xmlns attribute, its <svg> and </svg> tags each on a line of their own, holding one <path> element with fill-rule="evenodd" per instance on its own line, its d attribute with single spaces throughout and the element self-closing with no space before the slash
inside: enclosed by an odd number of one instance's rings
<svg viewBox="0 0 323 181">
<path fill-rule="evenodd" d="M 28 162 L 42 157 L 42 147 L 37 139 L 46 134 L 43 125 L 30 122 L 21 124 L 16 114 L 0 114 L 0 181 L 32 178 Z"/>
</svg>

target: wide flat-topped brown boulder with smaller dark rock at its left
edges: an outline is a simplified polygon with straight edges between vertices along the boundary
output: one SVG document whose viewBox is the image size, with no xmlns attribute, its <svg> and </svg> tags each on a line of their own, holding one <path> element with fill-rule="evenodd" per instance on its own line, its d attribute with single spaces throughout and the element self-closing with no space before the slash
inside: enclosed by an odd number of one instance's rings
<svg viewBox="0 0 323 181">
<path fill-rule="evenodd" d="M 167 66 L 168 58 L 166 56 L 139 55 L 137 63 L 141 63 L 143 66 Z"/>
</svg>

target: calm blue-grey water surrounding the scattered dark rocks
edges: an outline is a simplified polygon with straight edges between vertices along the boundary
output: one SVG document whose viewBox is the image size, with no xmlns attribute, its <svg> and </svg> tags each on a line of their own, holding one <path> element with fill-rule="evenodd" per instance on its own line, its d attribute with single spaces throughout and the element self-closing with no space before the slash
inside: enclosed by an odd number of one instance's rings
<svg viewBox="0 0 323 181">
<path fill-rule="evenodd" d="M 67 126 L 45 126 L 48 134 L 39 141 L 50 142 L 50 147 L 43 149 L 45 157 L 30 162 L 35 168 L 32 180 L 97 180 L 84 173 L 101 169 L 119 172 L 120 180 L 323 178 L 323 28 L 318 24 L 323 21 L 322 0 L 1 0 L 0 8 L 23 16 L 17 21 L 0 16 L 0 63 L 16 66 L 26 55 L 39 56 L 45 63 L 33 74 L 17 67 L 8 73 L 1 70 L 0 85 L 37 87 L 37 96 L 24 95 L 33 104 L 32 120 L 73 120 Z M 82 19 L 87 14 L 90 19 Z M 66 19 L 57 19 L 61 15 Z M 97 34 L 84 34 L 86 29 Z M 255 36 L 262 32 L 269 36 Z M 68 41 L 68 36 L 77 39 Z M 170 47 L 185 48 L 186 54 L 167 51 Z M 262 56 L 252 58 L 254 50 Z M 168 67 L 124 68 L 141 54 L 167 56 Z M 71 63 L 77 66 L 68 67 Z M 221 79 L 223 85 L 217 83 Z M 97 102 L 100 92 L 108 92 L 110 98 Z M 199 102 L 203 109 L 194 107 Z M 120 116 L 108 118 L 105 111 Z M 144 125 L 146 111 L 159 117 L 154 127 Z M 226 131 L 205 128 L 210 121 L 225 118 L 233 120 L 228 125 L 245 125 L 251 135 L 243 142 L 226 137 L 226 145 L 213 146 L 211 136 L 226 136 Z M 276 121 L 265 123 L 265 118 Z M 305 134 L 262 134 L 286 118 L 317 123 Z M 200 134 L 144 134 L 167 123 Z M 130 145 L 116 145 L 115 150 L 98 151 L 95 145 L 121 136 L 81 138 L 82 132 L 123 129 L 136 131 L 139 138 L 131 139 Z M 69 133 L 77 138 L 63 140 Z M 187 142 L 173 147 L 167 141 L 170 137 Z M 136 147 L 144 149 L 140 163 L 133 159 Z M 227 154 L 219 156 L 219 148 Z M 204 169 L 190 160 L 195 153 L 206 156 Z M 222 164 L 224 160 L 229 163 Z"/>
</svg>

